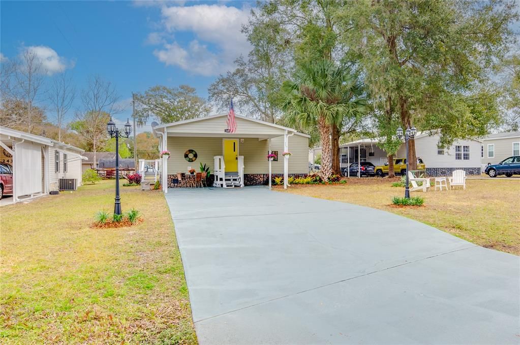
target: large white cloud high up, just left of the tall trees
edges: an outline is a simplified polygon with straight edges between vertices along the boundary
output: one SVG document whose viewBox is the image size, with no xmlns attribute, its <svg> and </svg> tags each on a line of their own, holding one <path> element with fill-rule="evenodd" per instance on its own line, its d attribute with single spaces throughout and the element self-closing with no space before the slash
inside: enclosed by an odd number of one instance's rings
<svg viewBox="0 0 520 345">
<path fill-rule="evenodd" d="M 161 14 L 167 33 L 192 32 L 196 37 L 185 47 L 176 41 L 163 42 L 162 49 L 156 49 L 154 54 L 166 65 L 204 76 L 217 75 L 230 70 L 233 61 L 249 51 L 250 45 L 240 32 L 248 21 L 248 8 L 217 4 L 163 6 Z"/>
</svg>

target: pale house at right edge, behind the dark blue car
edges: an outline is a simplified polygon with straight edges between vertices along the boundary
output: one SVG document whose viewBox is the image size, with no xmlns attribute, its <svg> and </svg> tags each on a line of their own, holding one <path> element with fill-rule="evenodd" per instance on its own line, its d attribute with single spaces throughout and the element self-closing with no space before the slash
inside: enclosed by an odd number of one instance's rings
<svg viewBox="0 0 520 345">
<path fill-rule="evenodd" d="M 520 132 L 489 134 L 482 139 L 482 165 L 496 164 L 511 156 L 520 156 Z"/>
</svg>

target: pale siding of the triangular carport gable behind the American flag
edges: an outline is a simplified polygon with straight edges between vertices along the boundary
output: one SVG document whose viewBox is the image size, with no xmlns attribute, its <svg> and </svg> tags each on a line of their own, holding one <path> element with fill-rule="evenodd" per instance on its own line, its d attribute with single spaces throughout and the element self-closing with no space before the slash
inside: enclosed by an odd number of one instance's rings
<svg viewBox="0 0 520 345">
<path fill-rule="evenodd" d="M 254 134 L 257 136 L 272 135 L 272 134 L 280 134 L 283 135 L 284 130 L 280 128 L 275 128 L 271 126 L 266 126 L 263 123 L 258 123 L 251 120 L 245 120 L 237 117 L 237 131 L 236 133 L 230 135 L 236 137 L 240 136 L 242 133 Z M 222 136 L 225 135 L 224 130 L 227 129 L 227 116 L 220 116 L 215 118 L 204 119 L 200 121 L 193 121 L 188 123 L 183 123 L 181 125 L 176 125 L 168 128 L 168 132 L 173 133 L 202 133 L 202 134 L 212 134 L 222 133 Z"/>
</svg>

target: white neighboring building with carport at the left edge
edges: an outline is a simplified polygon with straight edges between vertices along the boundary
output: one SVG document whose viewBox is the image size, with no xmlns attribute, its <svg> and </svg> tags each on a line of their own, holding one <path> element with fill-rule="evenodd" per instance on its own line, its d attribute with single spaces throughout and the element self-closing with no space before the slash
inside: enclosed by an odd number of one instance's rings
<svg viewBox="0 0 520 345">
<path fill-rule="evenodd" d="M 12 165 L 15 202 L 58 190 L 60 179 L 81 185 L 81 148 L 6 127 L 0 127 L 0 146 L 0 162 Z"/>
</svg>

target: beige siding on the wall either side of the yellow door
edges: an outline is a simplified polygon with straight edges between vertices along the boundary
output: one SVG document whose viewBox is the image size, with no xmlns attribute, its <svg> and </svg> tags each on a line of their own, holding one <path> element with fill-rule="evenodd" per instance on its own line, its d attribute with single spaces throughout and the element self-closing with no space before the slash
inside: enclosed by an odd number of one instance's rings
<svg viewBox="0 0 520 345">
<path fill-rule="evenodd" d="M 168 174 L 186 172 L 188 167 L 199 170 L 200 163 L 209 164 L 213 170 L 214 156 L 222 156 L 222 138 L 217 137 L 173 137 L 168 136 L 168 150 L 171 152 L 168 159 Z M 269 172 L 267 161 L 268 141 L 257 138 L 238 138 L 238 151 L 244 156 L 245 174 L 266 174 Z M 197 152 L 197 160 L 188 162 L 184 153 L 188 149 Z M 271 139 L 271 149 L 283 153 L 283 136 Z M 302 135 L 289 137 L 289 151 L 293 154 L 289 158 L 289 173 L 304 174 L 308 172 L 308 138 Z M 283 173 L 283 157 L 278 162 L 272 162 L 272 173 Z"/>
</svg>

